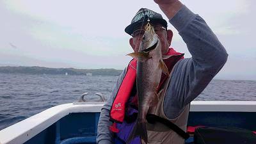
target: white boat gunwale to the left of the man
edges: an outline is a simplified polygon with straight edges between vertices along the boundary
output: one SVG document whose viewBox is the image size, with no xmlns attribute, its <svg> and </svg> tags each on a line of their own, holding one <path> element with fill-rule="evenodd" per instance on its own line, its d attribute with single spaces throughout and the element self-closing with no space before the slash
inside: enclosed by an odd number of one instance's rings
<svg viewBox="0 0 256 144">
<path fill-rule="evenodd" d="M 0 144 L 24 143 L 69 113 L 99 112 L 103 104 L 61 104 L 0 131 Z M 17 131 L 19 130 L 19 131 Z"/>
</svg>

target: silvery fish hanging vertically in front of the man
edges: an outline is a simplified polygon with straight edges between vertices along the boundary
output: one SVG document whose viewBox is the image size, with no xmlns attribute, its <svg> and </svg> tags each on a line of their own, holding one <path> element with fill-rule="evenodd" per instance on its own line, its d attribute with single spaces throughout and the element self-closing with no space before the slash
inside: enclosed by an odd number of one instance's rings
<svg viewBox="0 0 256 144">
<path fill-rule="evenodd" d="M 149 22 L 144 29 L 145 33 L 141 38 L 138 52 L 127 54 L 137 59 L 136 88 L 138 95 L 138 116 L 127 138 L 127 143 L 137 136 L 140 136 L 141 143 L 148 143 L 146 127 L 148 109 L 157 104 L 159 97 L 157 89 L 162 72 L 169 76 L 168 68 L 162 58 L 159 36 Z"/>
</svg>

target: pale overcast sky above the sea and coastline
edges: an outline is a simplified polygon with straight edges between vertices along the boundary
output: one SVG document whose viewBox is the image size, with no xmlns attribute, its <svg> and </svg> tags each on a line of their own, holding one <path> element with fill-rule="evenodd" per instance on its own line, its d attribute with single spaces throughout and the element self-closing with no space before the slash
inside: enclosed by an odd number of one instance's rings
<svg viewBox="0 0 256 144">
<path fill-rule="evenodd" d="M 256 80 L 256 1 L 184 0 L 226 48 L 216 79 Z M 0 1 L 0 66 L 124 69 L 131 36 L 124 32 L 140 8 L 154 1 Z M 168 20 L 165 16 L 164 19 Z M 191 54 L 171 24 L 172 47 Z"/>
</svg>

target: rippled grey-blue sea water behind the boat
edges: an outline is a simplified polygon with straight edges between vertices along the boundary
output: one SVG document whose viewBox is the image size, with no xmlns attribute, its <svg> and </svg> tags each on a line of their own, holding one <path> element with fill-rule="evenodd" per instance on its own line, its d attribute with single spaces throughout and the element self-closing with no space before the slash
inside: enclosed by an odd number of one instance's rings
<svg viewBox="0 0 256 144">
<path fill-rule="evenodd" d="M 47 108 L 77 101 L 108 99 L 118 77 L 0 73 L 0 130 Z M 256 81 L 214 79 L 195 100 L 256 100 Z"/>
</svg>

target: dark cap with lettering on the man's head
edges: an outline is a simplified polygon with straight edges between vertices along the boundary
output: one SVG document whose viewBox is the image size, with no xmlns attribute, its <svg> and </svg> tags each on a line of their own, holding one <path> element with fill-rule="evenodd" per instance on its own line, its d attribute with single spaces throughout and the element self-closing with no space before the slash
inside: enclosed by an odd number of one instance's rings
<svg viewBox="0 0 256 144">
<path fill-rule="evenodd" d="M 131 24 L 127 26 L 124 31 L 129 35 L 132 35 L 135 28 L 138 28 L 143 24 L 147 24 L 147 20 L 150 20 L 150 23 L 159 23 L 167 28 L 167 22 L 163 19 L 162 15 L 156 13 L 152 10 L 148 10 L 147 8 L 141 8 L 136 15 L 132 18 Z"/>
</svg>

